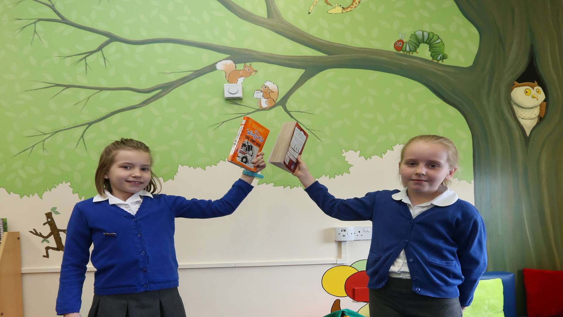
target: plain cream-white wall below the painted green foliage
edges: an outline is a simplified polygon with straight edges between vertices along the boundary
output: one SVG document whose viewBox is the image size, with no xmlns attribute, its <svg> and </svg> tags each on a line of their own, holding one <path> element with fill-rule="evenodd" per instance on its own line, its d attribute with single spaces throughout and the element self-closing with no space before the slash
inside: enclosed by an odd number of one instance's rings
<svg viewBox="0 0 563 317">
<path fill-rule="evenodd" d="M 370 160 L 358 153 L 345 153 L 351 174 L 319 181 L 336 197 L 363 196 L 374 190 L 399 188 L 397 162 L 400 146 L 383 158 Z M 275 166 L 268 166 L 275 168 Z M 93 174 L 93 171 L 92 171 Z M 240 175 L 240 169 L 226 162 L 203 171 L 180 168 L 174 180 L 163 184 L 171 195 L 217 199 Z M 256 183 L 256 181 L 255 181 Z M 473 203 L 473 185 L 454 180 L 452 188 L 461 199 Z M 78 196 L 68 184 L 43 195 L 20 198 L 0 191 L 1 217 L 8 218 L 10 231 L 20 231 L 24 283 L 24 315 L 55 316 L 62 252 L 50 251 L 43 258 L 46 243 L 30 234 L 33 228 L 46 234 L 44 213 L 56 206 L 57 226 L 66 223 Z M 177 219 L 176 250 L 181 268 L 180 293 L 186 311 L 205 311 L 222 316 L 323 316 L 337 298 L 323 290 L 321 278 L 335 264 L 212 267 L 221 263 L 334 261 L 339 245 L 332 227 L 369 226 L 370 222 L 341 222 L 324 215 L 302 188 L 256 186 L 233 215 L 216 219 Z M 64 239 L 64 234 L 62 234 Z M 51 244 L 54 246 L 53 241 Z M 348 265 L 365 259 L 369 241 L 347 244 Z M 267 264 L 267 263 L 266 263 Z M 93 296 L 93 272 L 88 271 L 83 289 L 81 314 L 86 316 Z M 358 310 L 364 303 L 341 298 L 342 308 Z M 190 314 L 188 313 L 188 316 Z"/>
</svg>

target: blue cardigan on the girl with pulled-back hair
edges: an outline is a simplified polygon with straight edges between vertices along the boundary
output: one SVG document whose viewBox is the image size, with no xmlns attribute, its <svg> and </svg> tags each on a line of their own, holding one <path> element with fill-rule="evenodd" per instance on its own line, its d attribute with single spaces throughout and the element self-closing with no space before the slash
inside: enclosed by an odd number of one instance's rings
<svg viewBox="0 0 563 317">
<path fill-rule="evenodd" d="M 382 288 L 389 268 L 405 249 L 413 291 L 455 298 L 469 306 L 487 264 L 485 223 L 477 209 L 458 199 L 434 206 L 413 219 L 399 192 L 369 192 L 364 197 L 336 199 L 319 182 L 305 190 L 325 214 L 346 221 L 372 221 L 372 245 L 366 273 L 369 288 Z"/>
</svg>

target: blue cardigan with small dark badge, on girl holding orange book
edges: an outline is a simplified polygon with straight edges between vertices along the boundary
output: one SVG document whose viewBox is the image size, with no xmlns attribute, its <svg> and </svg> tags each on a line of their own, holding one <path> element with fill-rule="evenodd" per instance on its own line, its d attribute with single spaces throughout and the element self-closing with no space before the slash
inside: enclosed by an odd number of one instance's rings
<svg viewBox="0 0 563 317">
<path fill-rule="evenodd" d="M 108 201 L 78 202 L 70 215 L 62 256 L 58 315 L 79 312 L 86 265 L 92 250 L 94 293 L 138 293 L 178 286 L 174 248 L 176 217 L 229 215 L 252 190 L 242 179 L 221 199 L 187 200 L 180 196 L 143 197 L 135 215 Z"/>
</svg>

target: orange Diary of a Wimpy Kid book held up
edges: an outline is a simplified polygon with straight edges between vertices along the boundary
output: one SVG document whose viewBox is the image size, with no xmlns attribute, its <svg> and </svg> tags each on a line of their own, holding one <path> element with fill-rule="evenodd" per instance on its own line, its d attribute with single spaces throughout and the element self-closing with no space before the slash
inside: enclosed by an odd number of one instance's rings
<svg viewBox="0 0 563 317">
<path fill-rule="evenodd" d="M 231 153 L 227 157 L 227 162 L 255 172 L 256 167 L 254 167 L 252 161 L 256 158 L 258 152 L 262 151 L 269 133 L 270 130 L 252 118 L 243 117 Z"/>
</svg>

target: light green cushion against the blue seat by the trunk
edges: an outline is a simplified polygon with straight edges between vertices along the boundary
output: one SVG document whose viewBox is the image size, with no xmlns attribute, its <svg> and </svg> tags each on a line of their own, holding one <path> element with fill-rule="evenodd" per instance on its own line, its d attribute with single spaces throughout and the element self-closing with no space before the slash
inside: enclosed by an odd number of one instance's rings
<svg viewBox="0 0 563 317">
<path fill-rule="evenodd" d="M 502 280 L 480 280 L 473 302 L 463 311 L 463 317 L 503 317 L 503 303 Z"/>
</svg>

